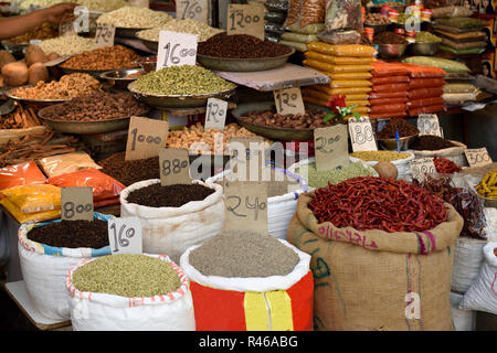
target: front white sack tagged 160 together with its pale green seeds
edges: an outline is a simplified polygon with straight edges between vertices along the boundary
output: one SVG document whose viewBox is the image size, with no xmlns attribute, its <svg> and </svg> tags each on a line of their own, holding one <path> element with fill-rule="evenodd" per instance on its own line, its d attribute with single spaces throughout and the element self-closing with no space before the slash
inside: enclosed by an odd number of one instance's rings
<svg viewBox="0 0 497 353">
<path fill-rule="evenodd" d="M 188 278 L 166 255 L 112 255 L 68 270 L 74 331 L 194 331 Z"/>
</svg>

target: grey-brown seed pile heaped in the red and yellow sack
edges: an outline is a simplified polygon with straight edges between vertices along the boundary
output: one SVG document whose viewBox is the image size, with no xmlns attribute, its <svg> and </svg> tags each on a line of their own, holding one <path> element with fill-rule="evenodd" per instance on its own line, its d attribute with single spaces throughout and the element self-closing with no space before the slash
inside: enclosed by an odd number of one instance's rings
<svg viewBox="0 0 497 353">
<path fill-rule="evenodd" d="M 297 253 L 271 235 L 251 231 L 219 234 L 189 256 L 190 265 L 204 276 L 286 276 L 299 261 Z"/>
</svg>

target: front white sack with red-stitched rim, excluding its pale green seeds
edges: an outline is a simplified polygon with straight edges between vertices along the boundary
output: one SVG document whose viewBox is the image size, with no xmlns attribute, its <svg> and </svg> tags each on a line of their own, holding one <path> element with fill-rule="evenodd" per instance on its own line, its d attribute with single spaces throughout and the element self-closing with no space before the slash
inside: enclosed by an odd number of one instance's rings
<svg viewBox="0 0 497 353">
<path fill-rule="evenodd" d="M 71 323 L 74 331 L 194 331 L 193 300 L 188 278 L 166 255 L 150 255 L 168 261 L 177 271 L 181 286 L 177 291 L 148 298 L 77 290 L 72 277 L 88 261 L 73 266 L 66 278 L 70 293 Z"/>
</svg>

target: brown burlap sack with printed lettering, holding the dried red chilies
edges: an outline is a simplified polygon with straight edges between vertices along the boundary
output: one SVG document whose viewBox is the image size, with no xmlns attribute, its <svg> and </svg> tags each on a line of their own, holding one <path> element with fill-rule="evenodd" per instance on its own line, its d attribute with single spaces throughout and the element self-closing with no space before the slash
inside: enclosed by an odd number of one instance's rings
<svg viewBox="0 0 497 353">
<path fill-rule="evenodd" d="M 287 239 L 313 256 L 315 329 L 321 331 L 453 330 L 451 280 L 462 216 L 430 232 L 387 233 L 318 224 L 300 195 Z"/>
</svg>

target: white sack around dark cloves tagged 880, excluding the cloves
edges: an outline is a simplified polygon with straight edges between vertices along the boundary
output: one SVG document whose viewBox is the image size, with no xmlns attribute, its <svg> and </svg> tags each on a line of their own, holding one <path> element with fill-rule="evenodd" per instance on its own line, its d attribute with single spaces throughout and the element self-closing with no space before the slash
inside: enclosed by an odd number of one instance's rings
<svg viewBox="0 0 497 353">
<path fill-rule="evenodd" d="M 120 216 L 136 216 L 141 223 L 144 253 L 166 254 L 178 263 L 181 254 L 192 245 L 219 234 L 224 225 L 223 188 L 194 180 L 215 192 L 202 201 L 191 201 L 181 207 L 147 207 L 126 200 L 134 190 L 160 183 L 151 179 L 134 183 L 120 192 Z"/>
</svg>

